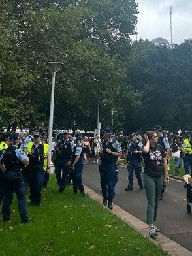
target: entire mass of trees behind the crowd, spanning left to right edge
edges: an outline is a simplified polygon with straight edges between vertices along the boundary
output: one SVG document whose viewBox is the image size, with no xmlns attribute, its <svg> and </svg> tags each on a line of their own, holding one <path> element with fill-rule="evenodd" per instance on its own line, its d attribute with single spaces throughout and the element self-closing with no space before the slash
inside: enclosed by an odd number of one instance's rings
<svg viewBox="0 0 192 256">
<path fill-rule="evenodd" d="M 0 3 L 2 127 L 48 126 L 46 62 L 59 61 L 54 128 L 95 129 L 98 102 L 103 126 L 114 110 L 116 131 L 191 128 L 192 45 L 131 42 L 134 0 Z"/>
</svg>

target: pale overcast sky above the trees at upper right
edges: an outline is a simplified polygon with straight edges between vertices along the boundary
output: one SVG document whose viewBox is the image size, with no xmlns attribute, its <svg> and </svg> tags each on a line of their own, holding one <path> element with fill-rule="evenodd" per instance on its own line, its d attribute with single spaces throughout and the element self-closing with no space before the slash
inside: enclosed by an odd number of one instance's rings
<svg viewBox="0 0 192 256">
<path fill-rule="evenodd" d="M 138 39 L 164 37 L 170 42 L 172 6 L 173 42 L 192 37 L 192 0 L 135 0 L 138 3 Z M 136 40 L 136 37 L 133 37 Z"/>
</svg>

